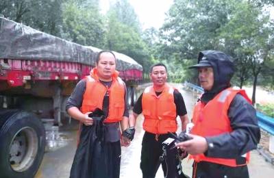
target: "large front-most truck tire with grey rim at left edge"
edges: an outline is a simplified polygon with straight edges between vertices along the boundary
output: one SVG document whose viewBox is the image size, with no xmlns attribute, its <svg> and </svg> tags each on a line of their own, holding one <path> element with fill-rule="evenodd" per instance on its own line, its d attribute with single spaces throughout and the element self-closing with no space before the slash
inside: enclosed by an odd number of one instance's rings
<svg viewBox="0 0 274 178">
<path fill-rule="evenodd" d="M 0 143 L 0 177 L 36 175 L 45 150 L 45 129 L 34 114 L 0 110 Z"/>
</svg>

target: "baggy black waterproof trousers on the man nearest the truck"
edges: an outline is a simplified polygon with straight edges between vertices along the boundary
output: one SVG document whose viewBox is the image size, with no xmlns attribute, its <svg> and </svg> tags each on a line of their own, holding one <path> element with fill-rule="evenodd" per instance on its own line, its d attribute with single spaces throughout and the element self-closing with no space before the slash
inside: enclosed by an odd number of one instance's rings
<svg viewBox="0 0 274 178">
<path fill-rule="evenodd" d="M 77 147 L 71 178 L 119 178 L 121 142 L 104 142 L 103 131 L 95 126 L 83 125 Z"/>
</svg>

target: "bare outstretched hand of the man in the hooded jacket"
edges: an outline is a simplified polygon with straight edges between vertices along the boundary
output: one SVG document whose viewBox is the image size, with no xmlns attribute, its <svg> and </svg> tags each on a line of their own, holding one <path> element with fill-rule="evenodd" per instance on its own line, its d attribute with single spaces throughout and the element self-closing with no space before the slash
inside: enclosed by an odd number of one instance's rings
<svg viewBox="0 0 274 178">
<path fill-rule="evenodd" d="M 191 155 L 197 155 L 200 153 L 205 153 L 208 150 L 208 142 L 206 142 L 206 138 L 188 134 L 192 139 L 187 140 L 186 142 L 179 142 L 176 147 L 182 149 L 182 151 L 187 151 Z"/>
</svg>

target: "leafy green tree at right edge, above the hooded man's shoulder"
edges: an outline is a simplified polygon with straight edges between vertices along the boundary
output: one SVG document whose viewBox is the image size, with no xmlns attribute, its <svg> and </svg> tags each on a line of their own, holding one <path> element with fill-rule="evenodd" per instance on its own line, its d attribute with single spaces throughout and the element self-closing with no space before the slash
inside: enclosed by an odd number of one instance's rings
<svg viewBox="0 0 274 178">
<path fill-rule="evenodd" d="M 219 29 L 219 46 L 237 58 L 240 87 L 249 73 L 253 75 L 252 101 L 256 103 L 258 75 L 269 60 L 272 34 L 269 16 L 260 7 L 248 1 L 237 3 L 229 21 Z"/>
</svg>

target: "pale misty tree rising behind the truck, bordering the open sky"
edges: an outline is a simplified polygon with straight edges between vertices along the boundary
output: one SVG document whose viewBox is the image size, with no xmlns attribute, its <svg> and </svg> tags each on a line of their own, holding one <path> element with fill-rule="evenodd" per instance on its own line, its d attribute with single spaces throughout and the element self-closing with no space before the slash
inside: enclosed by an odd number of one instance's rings
<svg viewBox="0 0 274 178">
<path fill-rule="evenodd" d="M 136 17 L 134 9 L 126 0 L 115 1 L 110 5 L 106 15 L 105 48 L 128 55 L 141 64 L 147 73 L 151 58 Z"/>
</svg>

